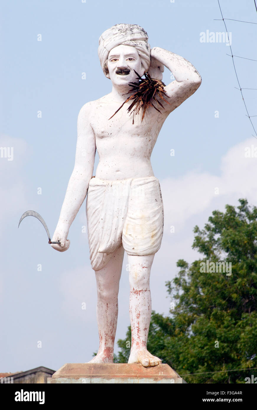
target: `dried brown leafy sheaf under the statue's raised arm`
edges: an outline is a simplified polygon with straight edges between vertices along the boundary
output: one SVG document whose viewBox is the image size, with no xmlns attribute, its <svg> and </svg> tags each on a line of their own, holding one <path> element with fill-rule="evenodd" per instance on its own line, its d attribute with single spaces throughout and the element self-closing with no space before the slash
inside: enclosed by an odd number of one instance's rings
<svg viewBox="0 0 257 410">
<path fill-rule="evenodd" d="M 168 97 L 168 96 L 167 96 L 167 94 L 165 94 L 165 91 L 163 90 L 163 87 L 165 87 L 165 84 L 161 80 L 157 80 L 156 78 L 151 78 L 151 76 L 148 73 L 144 74 L 145 78 L 140 77 L 140 75 L 136 71 L 135 71 L 135 73 L 138 76 L 139 81 L 138 82 L 130 82 L 129 85 L 132 88 L 131 88 L 131 90 L 129 90 L 129 92 L 126 93 L 126 94 L 133 93 L 133 95 L 131 95 L 130 97 L 128 97 L 126 99 L 126 101 L 124 101 L 124 103 L 109 118 L 109 120 L 115 114 L 117 114 L 119 109 L 121 109 L 125 103 L 127 103 L 130 100 L 133 100 L 133 103 L 129 106 L 128 112 L 130 112 L 131 109 L 135 105 L 135 108 L 132 111 L 133 112 L 133 122 L 132 122 L 132 124 L 134 124 L 135 111 L 136 111 L 136 114 L 138 114 L 138 112 L 141 108 L 143 109 L 141 123 L 144 119 L 145 112 L 146 112 L 146 110 L 149 106 L 154 107 L 158 112 L 161 113 L 161 111 L 154 106 L 153 101 L 151 101 L 151 100 L 156 101 L 156 103 L 158 103 L 158 105 L 160 105 L 164 109 L 163 105 L 161 104 L 160 101 L 157 100 L 156 97 L 159 97 L 163 101 L 165 101 L 166 103 L 170 104 L 167 100 L 165 100 L 165 98 L 163 98 L 163 96 L 165 96 L 165 97 Z M 123 95 L 126 95 L 126 94 L 123 94 Z"/>
</svg>

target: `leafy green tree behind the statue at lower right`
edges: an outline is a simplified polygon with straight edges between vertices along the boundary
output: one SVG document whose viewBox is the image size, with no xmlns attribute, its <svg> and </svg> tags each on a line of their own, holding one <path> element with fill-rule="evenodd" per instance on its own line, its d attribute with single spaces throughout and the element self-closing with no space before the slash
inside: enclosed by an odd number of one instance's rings
<svg viewBox="0 0 257 410">
<path fill-rule="evenodd" d="M 257 376 L 257 369 L 234 371 L 257 367 L 257 208 L 246 199 L 239 203 L 213 211 L 203 230 L 194 228 L 193 248 L 203 258 L 177 262 L 178 275 L 166 282 L 174 309 L 169 317 L 152 312 L 148 350 L 188 383 L 245 383 Z M 216 262 L 227 262 L 227 270 Z M 127 362 L 128 341 L 130 328 L 118 340 L 116 362 Z"/>
</svg>

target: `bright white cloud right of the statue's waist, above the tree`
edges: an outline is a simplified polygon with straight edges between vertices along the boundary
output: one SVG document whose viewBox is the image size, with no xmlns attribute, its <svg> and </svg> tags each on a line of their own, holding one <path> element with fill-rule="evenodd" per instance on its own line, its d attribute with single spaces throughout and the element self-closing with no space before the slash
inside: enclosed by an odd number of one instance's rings
<svg viewBox="0 0 257 410">
<path fill-rule="evenodd" d="M 252 144 L 255 140 L 250 138 L 230 148 L 220 161 L 217 159 L 213 175 L 190 171 L 179 178 L 161 180 L 167 223 L 182 227 L 193 215 L 201 216 L 204 210 L 214 210 L 217 203 L 222 207 L 226 203 L 236 205 L 239 198 L 246 197 L 250 203 L 256 203 L 257 158 L 245 157 L 245 148 Z M 219 194 L 215 193 L 216 188 Z"/>
</svg>

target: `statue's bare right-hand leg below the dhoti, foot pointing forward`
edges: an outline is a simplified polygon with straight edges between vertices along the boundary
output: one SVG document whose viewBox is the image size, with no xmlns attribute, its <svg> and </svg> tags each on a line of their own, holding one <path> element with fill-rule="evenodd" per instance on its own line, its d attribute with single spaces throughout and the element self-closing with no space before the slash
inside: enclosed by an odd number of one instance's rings
<svg viewBox="0 0 257 410">
<path fill-rule="evenodd" d="M 131 353 L 128 363 L 157 366 L 161 360 L 147 351 L 147 336 L 151 320 L 151 292 L 149 287 L 153 255 L 128 255 L 131 320 Z"/>
</svg>

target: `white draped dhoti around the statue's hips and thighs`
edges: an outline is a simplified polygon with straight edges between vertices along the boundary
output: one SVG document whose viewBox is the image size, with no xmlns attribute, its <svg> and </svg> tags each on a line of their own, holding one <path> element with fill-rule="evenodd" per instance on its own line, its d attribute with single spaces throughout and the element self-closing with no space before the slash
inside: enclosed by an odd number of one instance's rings
<svg viewBox="0 0 257 410">
<path fill-rule="evenodd" d="M 87 232 L 92 269 L 103 268 L 121 245 L 129 255 L 151 255 L 163 237 L 163 201 L 157 178 L 89 181 Z"/>
</svg>

